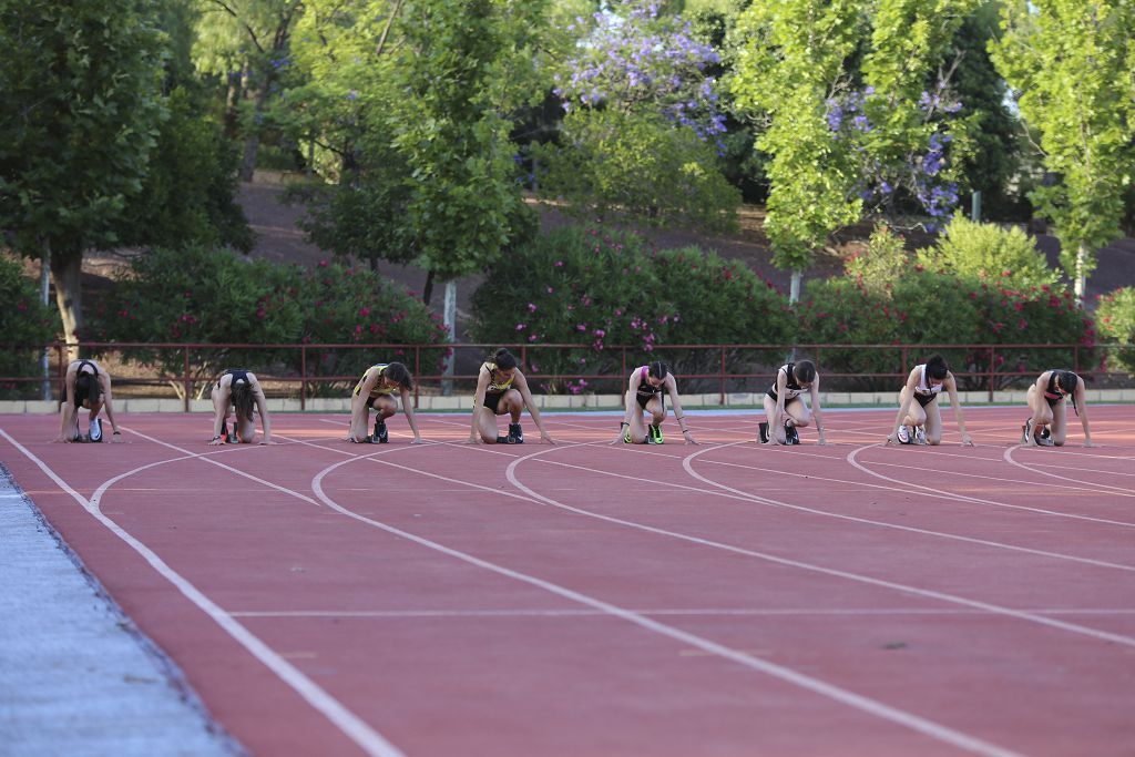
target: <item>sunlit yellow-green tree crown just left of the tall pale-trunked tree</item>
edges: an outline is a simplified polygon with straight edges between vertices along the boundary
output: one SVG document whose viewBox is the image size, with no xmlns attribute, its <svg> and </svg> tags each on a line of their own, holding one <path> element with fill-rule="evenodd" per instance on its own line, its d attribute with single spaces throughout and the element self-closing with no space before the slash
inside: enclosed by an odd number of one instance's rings
<svg viewBox="0 0 1135 757">
<path fill-rule="evenodd" d="M 301 227 L 372 269 L 417 255 L 402 225 L 409 171 L 387 121 L 403 9 L 404 0 L 308 0 L 292 43 L 301 84 L 277 103 L 277 119 L 308 145 L 311 179 L 287 193 L 304 204 Z"/>
</svg>

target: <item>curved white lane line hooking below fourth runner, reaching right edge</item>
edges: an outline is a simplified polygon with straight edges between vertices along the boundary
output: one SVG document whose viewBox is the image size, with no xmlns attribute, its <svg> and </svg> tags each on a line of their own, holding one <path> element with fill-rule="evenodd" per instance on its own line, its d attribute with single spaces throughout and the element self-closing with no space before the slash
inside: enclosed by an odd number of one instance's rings
<svg viewBox="0 0 1135 757">
<path fill-rule="evenodd" d="M 738 444 L 738 443 L 733 443 L 733 444 Z M 691 454 L 690 457 L 696 457 L 697 455 L 703 454 L 704 452 L 708 452 L 708 451 L 709 449 L 703 449 L 700 452 L 696 452 L 696 453 Z M 532 497 L 535 499 L 539 499 L 540 502 L 543 502 L 543 503 L 545 503 L 547 505 L 550 505 L 553 507 L 558 507 L 561 510 L 566 510 L 569 512 L 579 513 L 581 515 L 587 515 L 589 518 L 596 518 L 598 520 L 607 521 L 607 522 L 611 522 L 611 523 L 619 523 L 621 525 L 627 525 L 627 527 L 630 527 L 630 528 L 633 528 L 633 529 L 639 529 L 641 531 L 647 531 L 649 533 L 657 533 L 659 536 L 666 536 L 666 537 L 671 537 L 671 538 L 674 538 L 674 539 L 680 539 L 682 541 L 689 541 L 691 544 L 699 544 L 699 545 L 707 546 L 707 547 L 714 547 L 716 549 L 723 549 L 725 552 L 731 552 L 731 553 L 738 554 L 738 555 L 746 555 L 746 556 L 749 556 L 749 557 L 756 557 L 758 560 L 764 560 L 764 561 L 767 561 L 767 562 L 771 562 L 771 563 L 775 563 L 777 565 L 785 565 L 785 566 L 789 566 L 789 567 L 798 567 L 800 570 L 808 571 L 808 572 L 812 572 L 812 573 L 819 573 L 822 575 L 832 575 L 832 577 L 835 577 L 835 578 L 847 579 L 849 581 L 855 581 L 855 582 L 858 582 L 858 583 L 866 583 L 868 586 L 876 586 L 876 587 L 882 587 L 882 588 L 885 588 L 885 589 L 892 589 L 892 590 L 896 590 L 896 591 L 899 591 L 899 592 L 903 592 L 903 594 L 914 594 L 914 595 L 917 595 L 917 596 L 920 596 L 920 597 L 926 597 L 928 599 L 934 599 L 934 600 L 938 600 L 938 602 L 945 602 L 945 603 L 950 603 L 950 604 L 955 604 L 955 605 L 961 605 L 964 607 L 973 607 L 973 608 L 976 608 L 976 609 L 984 609 L 985 612 L 992 613 L 994 615 L 1003 615 L 1003 616 L 1007 616 L 1007 617 L 1015 617 L 1017 620 L 1023 620 L 1023 621 L 1027 621 L 1027 622 L 1031 622 L 1031 623 L 1037 623 L 1037 624 L 1041 624 L 1041 625 L 1048 625 L 1050 628 L 1060 629 L 1062 631 L 1068 631 L 1068 632 L 1071 632 L 1071 633 L 1075 633 L 1075 634 L 1078 634 L 1078 636 L 1086 636 L 1086 637 L 1091 637 L 1091 638 L 1094 638 L 1094 639 L 1100 639 L 1100 640 L 1103 640 L 1103 641 L 1113 641 L 1116 644 L 1121 644 L 1124 646 L 1135 647 L 1135 638 L 1127 637 L 1127 636 L 1120 636 L 1118 633 L 1110 633 L 1108 631 L 1100 631 L 1100 630 L 1096 630 L 1096 629 L 1093 629 L 1093 628 L 1087 628 L 1085 625 L 1077 625 L 1077 624 L 1074 624 L 1074 623 L 1065 623 L 1062 621 L 1054 621 L 1054 620 L 1051 620 L 1049 617 L 1043 617 L 1041 615 L 1031 614 L 1028 612 L 1024 612 L 1024 611 L 1019 611 L 1019 609 L 1012 609 L 1010 607 L 1002 607 L 1001 605 L 993 605 L 993 604 L 985 603 L 985 602 L 980 602 L 980 600 L 976 600 L 976 599 L 967 599 L 965 597 L 959 597 L 957 595 L 947 594 L 944 591 L 935 591 L 933 589 L 922 589 L 919 587 L 909 586 L 909 584 L 906 584 L 906 583 L 897 583 L 894 581 L 885 581 L 883 579 L 876 579 L 876 578 L 873 578 L 873 577 L 869 577 L 869 575 L 863 575 L 863 574 L 859 574 L 859 573 L 851 573 L 849 571 L 841 571 L 841 570 L 836 570 L 836 569 L 833 569 L 833 567 L 824 567 L 823 565 L 815 565 L 815 564 L 812 564 L 812 563 L 805 563 L 805 562 L 797 561 L 797 560 L 789 560 L 787 557 L 777 557 L 776 555 L 771 555 L 768 553 L 757 552 L 757 550 L 754 550 L 754 549 L 746 549 L 743 547 L 737 547 L 737 546 L 733 546 L 733 545 L 723 544 L 721 541 L 714 541 L 712 539 L 705 539 L 705 538 L 701 538 L 701 537 L 689 536 L 687 533 L 680 533 L 680 532 L 676 532 L 676 531 L 669 531 L 666 529 L 656 528 L 654 525 L 646 525 L 644 523 L 636 523 L 633 521 L 627 521 L 627 520 L 623 520 L 623 519 L 620 519 L 620 518 L 614 518 L 614 516 L 611 516 L 611 515 L 602 515 L 599 513 L 594 513 L 594 512 L 590 512 L 590 511 L 587 511 L 587 510 L 581 510 L 579 507 L 573 507 L 571 505 L 565 505 L 565 504 L 560 503 L 560 502 L 557 502 L 555 499 L 552 499 L 550 497 L 546 497 L 546 496 L 544 496 L 544 495 L 541 495 L 541 494 L 539 494 L 537 491 L 533 491 L 529 487 L 527 487 L 523 483 L 521 483 L 520 480 L 516 478 L 516 474 L 515 474 L 515 468 L 516 468 L 516 465 L 519 463 L 524 462 L 526 460 L 530 460 L 532 457 L 536 457 L 538 455 L 546 454 L 548 452 L 552 452 L 552 451 L 550 449 L 545 449 L 545 451 L 541 451 L 541 452 L 532 453 L 531 455 L 526 455 L 524 457 L 516 459 L 515 461 L 513 461 L 508 465 L 508 469 L 506 471 L 506 476 L 508 477 L 508 480 L 513 483 L 513 486 L 515 486 L 518 489 L 520 489 L 521 491 L 524 491 L 526 494 L 528 494 L 528 496 L 530 496 L 530 497 Z M 597 473 L 604 473 L 605 471 L 596 471 L 596 472 Z M 630 478 L 630 477 L 627 477 L 627 478 Z"/>
</svg>

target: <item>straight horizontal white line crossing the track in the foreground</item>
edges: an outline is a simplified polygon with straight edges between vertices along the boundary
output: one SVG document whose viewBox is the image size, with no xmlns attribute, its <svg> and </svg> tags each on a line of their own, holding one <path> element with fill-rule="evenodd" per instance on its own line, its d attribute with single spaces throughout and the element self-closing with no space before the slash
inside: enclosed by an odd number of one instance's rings
<svg viewBox="0 0 1135 757">
<path fill-rule="evenodd" d="M 650 616 L 679 617 L 906 617 L 906 616 L 978 616 L 986 615 L 983 609 L 938 608 L 631 608 L 630 612 Z M 1123 617 L 1135 615 L 1130 607 L 1109 608 L 1034 608 L 1025 612 L 1037 615 L 1098 615 L 1102 617 Z M 607 613 L 598 609 L 242 609 L 229 611 L 233 617 L 377 617 L 377 619 L 418 619 L 418 617 L 603 617 Z"/>
</svg>

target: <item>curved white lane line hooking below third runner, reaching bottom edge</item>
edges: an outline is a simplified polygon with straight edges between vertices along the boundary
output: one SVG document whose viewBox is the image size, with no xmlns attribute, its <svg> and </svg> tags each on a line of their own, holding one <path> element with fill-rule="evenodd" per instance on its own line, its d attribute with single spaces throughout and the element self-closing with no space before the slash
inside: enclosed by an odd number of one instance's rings
<svg viewBox="0 0 1135 757">
<path fill-rule="evenodd" d="M 875 699 L 871 699 L 863 695 L 858 695 L 847 689 L 842 689 L 831 683 L 826 683 L 824 681 L 821 681 L 819 679 L 805 675 L 792 668 L 784 667 L 783 665 L 776 665 L 775 663 L 770 663 L 758 657 L 747 655 L 742 651 L 730 649 L 729 647 L 722 646 L 708 639 L 704 639 L 699 636 L 695 636 L 687 631 L 682 631 L 671 625 L 659 623 L 655 620 L 651 620 L 633 611 L 619 607 L 617 605 L 612 605 L 609 603 L 603 602 L 602 599 L 597 599 L 595 597 L 581 594 L 579 591 L 574 591 L 573 589 L 562 587 L 557 583 L 553 583 L 550 581 L 546 581 L 544 579 L 529 575 L 527 573 L 521 573 L 519 571 L 514 571 L 503 565 L 497 565 L 496 563 L 491 563 L 487 560 L 481 560 L 480 557 L 474 557 L 473 555 L 460 552 L 452 547 L 446 547 L 445 545 L 410 533 L 409 531 L 403 531 L 402 529 L 388 525 L 387 523 L 384 523 L 381 521 L 377 521 L 371 518 L 360 515 L 339 505 L 334 499 L 328 497 L 323 493 L 322 480 L 328 473 L 335 471 L 336 469 L 342 468 L 347 463 L 354 462 L 354 460 L 363 460 L 363 459 L 365 457 L 355 457 L 353 460 L 339 461 L 338 463 L 329 465 L 328 468 L 325 468 L 322 471 L 320 471 L 316 476 L 316 478 L 313 478 L 311 481 L 311 488 L 316 493 L 316 496 L 319 497 L 328 507 L 331 507 L 333 510 L 336 510 L 343 513 L 344 515 L 347 515 L 348 518 L 354 518 L 361 522 L 373 525 L 375 528 L 381 529 L 388 533 L 401 537 L 409 541 L 413 541 L 414 544 L 418 544 L 428 549 L 432 549 L 444 555 L 448 555 L 449 557 L 460 560 L 470 565 L 474 565 L 477 567 L 491 571 L 494 573 L 497 573 L 498 575 L 503 575 L 505 578 L 520 581 L 522 583 L 528 583 L 529 586 L 544 589 L 549 594 L 554 594 L 558 597 L 563 597 L 564 599 L 568 599 L 570 602 L 580 605 L 586 605 L 607 615 L 620 617 L 640 628 L 658 633 L 659 636 L 664 636 L 674 639 L 676 641 L 681 641 L 682 644 L 696 647 L 708 654 L 717 655 L 725 659 L 730 659 L 740 665 L 743 665 L 745 667 L 758 671 L 760 673 L 765 673 L 767 675 L 794 684 L 814 693 L 818 693 L 823 697 L 827 697 L 829 699 L 833 699 L 849 707 L 858 709 L 863 713 L 890 721 L 892 723 L 905 726 L 918 733 L 928 735 L 932 739 L 936 739 L 939 741 L 953 745 L 959 749 L 965 749 L 967 751 L 978 755 L 989 755 L 998 757 L 1009 757 L 1010 755 L 1016 754 L 1008 749 L 998 747 L 997 745 L 990 743 L 989 741 L 977 739 L 967 733 L 962 733 L 960 731 L 956 731 L 953 729 L 941 725 L 940 723 L 935 723 L 933 721 L 919 717 L 917 715 L 899 709 L 897 707 L 891 707 L 890 705 L 885 705 Z M 518 459 L 510 465 L 508 468 L 510 474 L 512 473 L 513 466 L 518 462 L 520 462 L 520 460 L 523 459 Z"/>
</svg>

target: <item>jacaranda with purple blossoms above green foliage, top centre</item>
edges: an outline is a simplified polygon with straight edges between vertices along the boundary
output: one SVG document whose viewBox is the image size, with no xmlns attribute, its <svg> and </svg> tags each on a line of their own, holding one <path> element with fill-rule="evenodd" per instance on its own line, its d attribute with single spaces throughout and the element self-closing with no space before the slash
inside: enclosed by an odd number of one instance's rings
<svg viewBox="0 0 1135 757">
<path fill-rule="evenodd" d="M 725 119 L 706 68 L 718 53 L 657 2 L 625 0 L 578 17 L 555 75 L 560 143 L 533 149 L 538 186 L 580 215 L 728 227 L 739 196 L 717 154 Z"/>
</svg>

